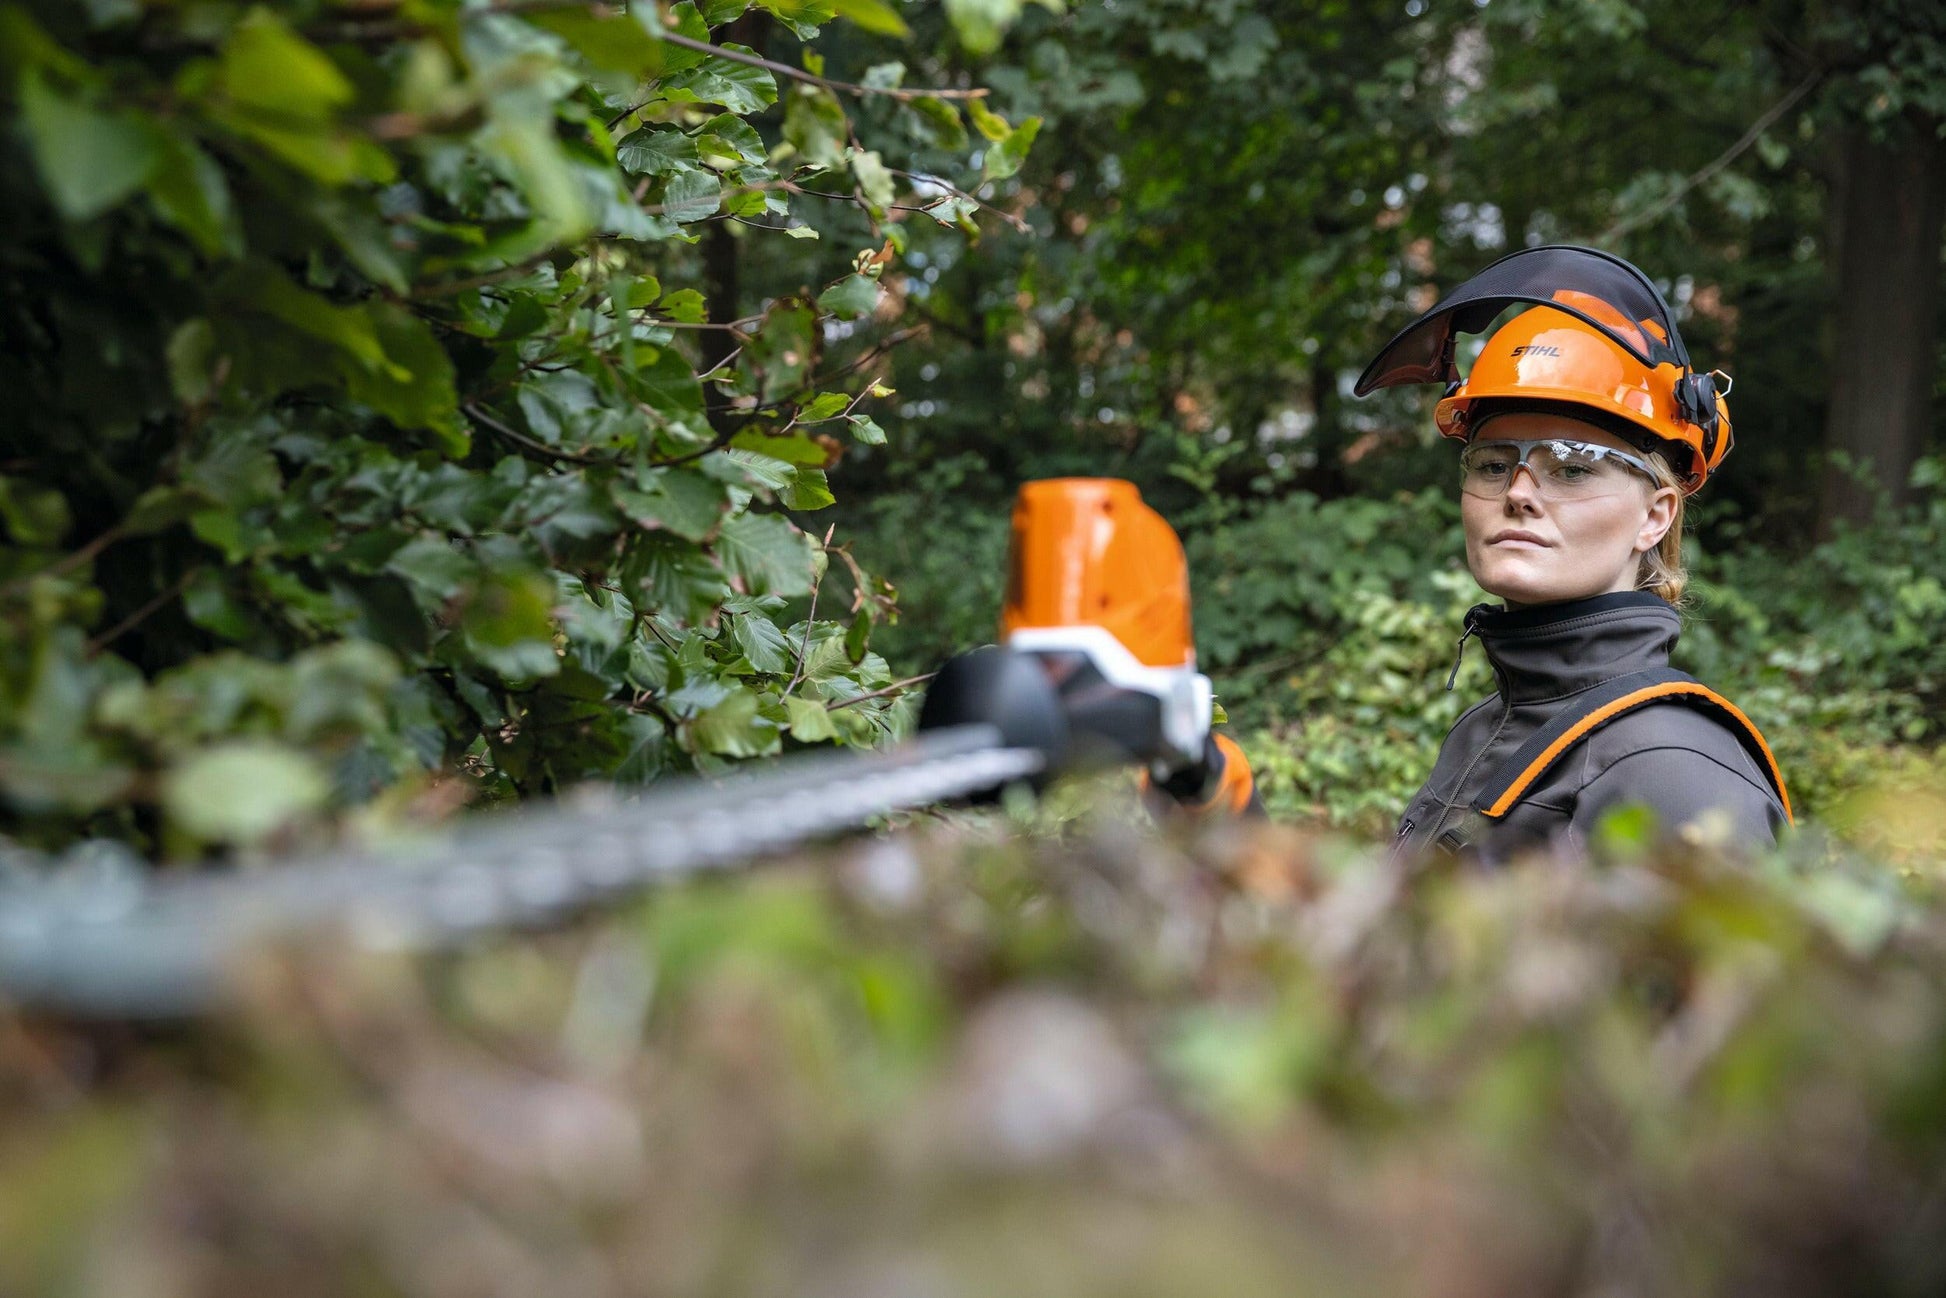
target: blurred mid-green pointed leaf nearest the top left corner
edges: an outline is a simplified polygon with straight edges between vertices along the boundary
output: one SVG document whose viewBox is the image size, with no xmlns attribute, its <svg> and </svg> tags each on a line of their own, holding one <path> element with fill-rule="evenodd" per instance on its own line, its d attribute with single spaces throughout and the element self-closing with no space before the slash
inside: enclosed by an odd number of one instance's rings
<svg viewBox="0 0 1946 1298">
<path fill-rule="evenodd" d="M 19 82 L 19 111 L 47 193 L 68 220 L 107 212 L 162 162 L 148 123 L 68 99 L 39 70 L 29 68 Z"/>
</svg>

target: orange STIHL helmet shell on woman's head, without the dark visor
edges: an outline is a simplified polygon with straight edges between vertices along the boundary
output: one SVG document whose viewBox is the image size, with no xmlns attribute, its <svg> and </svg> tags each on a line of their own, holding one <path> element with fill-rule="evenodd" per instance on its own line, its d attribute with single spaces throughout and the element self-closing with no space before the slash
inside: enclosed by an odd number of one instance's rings
<svg viewBox="0 0 1946 1298">
<path fill-rule="evenodd" d="M 1705 448 L 1705 430 L 1683 416 L 1677 401 L 1683 370 L 1668 362 L 1646 366 L 1611 337 L 1621 333 L 1637 341 L 1637 350 L 1648 350 L 1644 335 L 1668 341 L 1654 321 L 1631 325 L 1605 302 L 1574 290 L 1559 290 L 1555 300 L 1594 315 L 1605 329 L 1545 306 L 1522 311 L 1487 339 L 1473 372 L 1432 411 L 1434 426 L 1465 442 L 1489 415 L 1561 411 L 1668 453 L 1683 490 L 1693 492 L 1730 453 L 1730 407 L 1722 395 L 1714 393 L 1716 436 Z"/>
</svg>

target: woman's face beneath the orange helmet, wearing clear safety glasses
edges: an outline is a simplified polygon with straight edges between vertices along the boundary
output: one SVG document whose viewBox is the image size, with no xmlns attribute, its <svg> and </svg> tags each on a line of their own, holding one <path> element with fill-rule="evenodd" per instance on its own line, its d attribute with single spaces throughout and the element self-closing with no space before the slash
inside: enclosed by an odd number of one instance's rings
<svg viewBox="0 0 1946 1298">
<path fill-rule="evenodd" d="M 1639 451 L 1611 432 L 1565 415 L 1498 415 L 1473 442 L 1567 438 Z M 1617 490 L 1578 500 L 1545 500 L 1533 469 L 1514 471 L 1504 496 L 1461 492 L 1465 566 L 1481 590 L 1508 607 L 1584 599 L 1635 590 L 1642 555 L 1676 518 L 1677 492 L 1625 471 Z"/>
</svg>

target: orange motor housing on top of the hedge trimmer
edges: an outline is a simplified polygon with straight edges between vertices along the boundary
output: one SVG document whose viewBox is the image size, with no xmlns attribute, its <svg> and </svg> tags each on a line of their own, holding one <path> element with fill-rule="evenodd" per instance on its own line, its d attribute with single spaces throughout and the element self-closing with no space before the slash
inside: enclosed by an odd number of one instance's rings
<svg viewBox="0 0 1946 1298">
<path fill-rule="evenodd" d="M 1135 483 L 1027 483 L 1014 500 L 1000 636 L 1084 625 L 1105 629 L 1142 666 L 1193 666 L 1183 543 Z"/>
</svg>

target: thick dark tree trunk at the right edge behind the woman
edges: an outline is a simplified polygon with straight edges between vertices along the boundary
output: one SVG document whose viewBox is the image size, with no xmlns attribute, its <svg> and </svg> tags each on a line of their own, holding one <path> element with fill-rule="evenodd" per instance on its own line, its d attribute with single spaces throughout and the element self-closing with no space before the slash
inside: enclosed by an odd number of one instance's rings
<svg viewBox="0 0 1946 1298">
<path fill-rule="evenodd" d="M 1868 522 L 1880 500 L 1903 504 L 1913 463 L 1932 434 L 1932 366 L 1940 294 L 1940 222 L 1946 218 L 1946 148 L 1923 123 L 1901 142 L 1864 130 L 1839 142 L 1831 195 L 1837 311 L 1831 405 L 1818 531 Z"/>
</svg>

